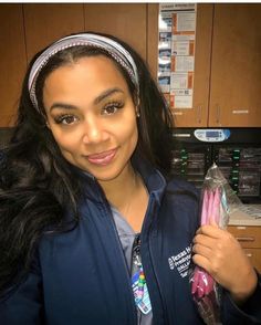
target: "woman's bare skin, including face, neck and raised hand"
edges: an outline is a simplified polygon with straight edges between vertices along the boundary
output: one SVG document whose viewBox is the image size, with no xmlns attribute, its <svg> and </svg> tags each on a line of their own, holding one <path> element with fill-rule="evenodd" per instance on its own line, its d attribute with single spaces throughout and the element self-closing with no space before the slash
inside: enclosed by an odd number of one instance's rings
<svg viewBox="0 0 261 325">
<path fill-rule="evenodd" d="M 115 64 L 100 55 L 59 67 L 45 81 L 43 103 L 64 158 L 92 174 L 108 201 L 139 232 L 148 195 L 129 161 L 138 138 L 137 107 Z M 229 232 L 216 224 L 199 228 L 194 252 L 195 263 L 238 304 L 253 293 L 257 274 Z"/>
</svg>

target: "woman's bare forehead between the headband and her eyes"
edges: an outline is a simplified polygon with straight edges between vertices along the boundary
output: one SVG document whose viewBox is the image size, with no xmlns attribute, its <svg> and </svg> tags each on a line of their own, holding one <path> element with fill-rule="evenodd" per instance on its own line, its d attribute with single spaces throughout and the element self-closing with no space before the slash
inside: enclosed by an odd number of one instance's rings
<svg viewBox="0 0 261 325">
<path fill-rule="evenodd" d="M 81 57 L 50 73 L 43 87 L 43 103 L 45 107 L 61 101 L 84 106 L 112 88 L 117 88 L 117 94 L 130 95 L 115 63 L 104 55 Z"/>
</svg>

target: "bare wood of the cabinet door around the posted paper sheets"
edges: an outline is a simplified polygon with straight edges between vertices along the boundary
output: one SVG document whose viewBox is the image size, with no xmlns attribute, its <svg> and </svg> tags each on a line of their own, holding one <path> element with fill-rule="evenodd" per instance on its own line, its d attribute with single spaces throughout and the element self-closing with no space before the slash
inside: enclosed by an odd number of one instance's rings
<svg viewBox="0 0 261 325">
<path fill-rule="evenodd" d="M 212 4 L 197 4 L 196 53 L 192 108 L 173 109 L 178 127 L 206 127 L 209 106 Z M 157 77 L 158 4 L 148 4 L 148 63 Z"/>
</svg>

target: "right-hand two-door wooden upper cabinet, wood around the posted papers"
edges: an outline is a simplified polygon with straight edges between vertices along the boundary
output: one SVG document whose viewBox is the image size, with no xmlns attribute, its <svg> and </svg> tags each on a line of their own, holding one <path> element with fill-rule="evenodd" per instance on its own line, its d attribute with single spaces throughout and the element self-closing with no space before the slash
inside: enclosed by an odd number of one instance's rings
<svg viewBox="0 0 261 325">
<path fill-rule="evenodd" d="M 158 4 L 149 7 L 158 12 Z M 158 35 L 155 15 L 148 33 Z M 148 44 L 156 77 L 157 39 Z M 192 108 L 174 109 L 176 126 L 261 127 L 260 44 L 261 4 L 197 4 Z"/>
</svg>

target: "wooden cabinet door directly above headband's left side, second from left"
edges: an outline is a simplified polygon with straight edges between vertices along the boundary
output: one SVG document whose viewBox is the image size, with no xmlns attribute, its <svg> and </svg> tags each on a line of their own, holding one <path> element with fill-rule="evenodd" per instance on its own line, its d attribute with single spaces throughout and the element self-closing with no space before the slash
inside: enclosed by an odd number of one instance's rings
<svg viewBox="0 0 261 325">
<path fill-rule="evenodd" d="M 23 6 L 29 60 L 54 40 L 84 30 L 83 4 Z"/>
</svg>

